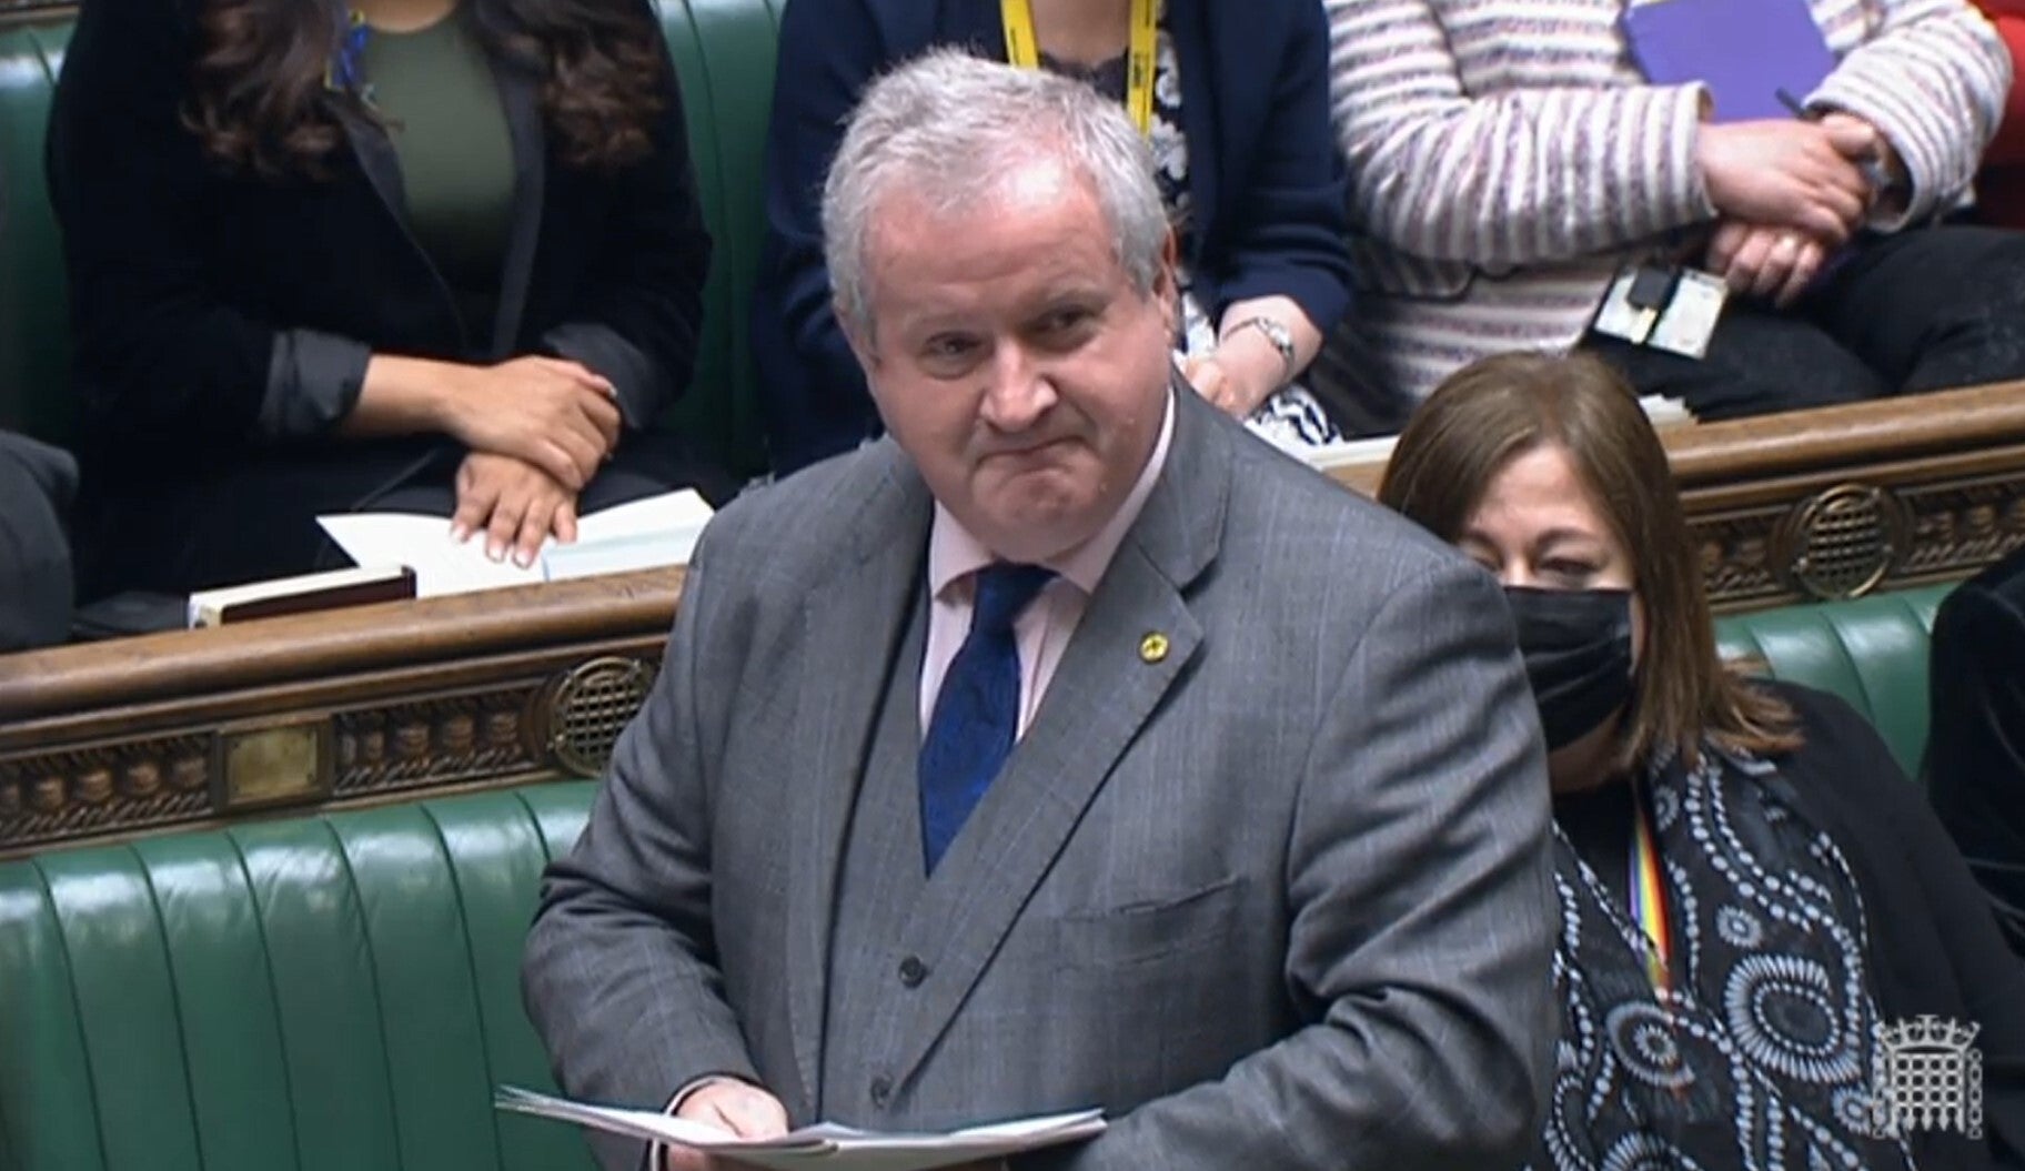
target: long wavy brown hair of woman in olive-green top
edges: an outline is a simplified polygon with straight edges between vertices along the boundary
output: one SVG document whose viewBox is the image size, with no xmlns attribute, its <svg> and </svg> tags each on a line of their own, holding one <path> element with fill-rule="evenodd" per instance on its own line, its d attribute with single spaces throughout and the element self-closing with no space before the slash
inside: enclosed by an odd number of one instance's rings
<svg viewBox="0 0 2025 1171">
<path fill-rule="evenodd" d="M 466 0 L 494 59 L 541 81 L 549 134 L 569 166 L 620 168 L 654 148 L 660 28 L 632 0 Z M 205 154 L 263 178 L 322 176 L 358 97 L 326 85 L 344 41 L 324 0 L 205 0 L 182 124 Z M 452 20 L 462 14 L 452 14 Z"/>
</svg>

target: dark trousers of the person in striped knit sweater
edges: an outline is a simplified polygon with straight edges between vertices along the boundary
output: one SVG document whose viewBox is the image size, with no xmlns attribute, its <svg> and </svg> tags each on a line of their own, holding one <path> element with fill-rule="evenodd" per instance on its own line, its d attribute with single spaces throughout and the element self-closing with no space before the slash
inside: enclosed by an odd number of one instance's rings
<svg viewBox="0 0 2025 1171">
<path fill-rule="evenodd" d="M 1582 348 L 1699 419 L 2025 379 L 2025 231 L 1912 229 L 1831 263 L 1788 310 L 1731 298 L 1699 361 L 1594 332 Z"/>
</svg>

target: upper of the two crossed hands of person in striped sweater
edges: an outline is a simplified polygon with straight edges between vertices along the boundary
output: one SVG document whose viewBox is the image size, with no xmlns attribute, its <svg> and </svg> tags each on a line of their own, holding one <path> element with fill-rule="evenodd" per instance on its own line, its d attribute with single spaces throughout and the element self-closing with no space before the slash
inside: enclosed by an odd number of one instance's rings
<svg viewBox="0 0 2025 1171">
<path fill-rule="evenodd" d="M 1695 164 L 1709 203 L 1729 219 L 1800 229 L 1831 247 L 1847 241 L 1871 199 L 1853 160 L 1877 152 L 1879 136 L 1867 122 L 1831 118 L 1705 124 Z"/>
</svg>

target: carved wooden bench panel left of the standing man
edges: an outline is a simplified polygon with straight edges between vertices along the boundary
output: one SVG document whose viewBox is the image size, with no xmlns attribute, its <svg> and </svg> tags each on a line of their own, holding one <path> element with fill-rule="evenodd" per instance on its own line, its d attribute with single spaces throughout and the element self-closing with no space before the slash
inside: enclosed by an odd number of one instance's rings
<svg viewBox="0 0 2025 1171">
<path fill-rule="evenodd" d="M 0 656 L 0 857 L 595 774 L 678 588 L 664 569 Z"/>
</svg>

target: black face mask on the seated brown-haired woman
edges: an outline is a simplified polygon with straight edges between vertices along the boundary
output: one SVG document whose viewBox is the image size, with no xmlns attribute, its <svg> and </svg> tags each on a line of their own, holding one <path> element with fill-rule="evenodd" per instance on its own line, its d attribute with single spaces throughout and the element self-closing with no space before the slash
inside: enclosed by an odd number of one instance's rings
<svg viewBox="0 0 2025 1171">
<path fill-rule="evenodd" d="M 1505 588 L 1547 750 L 1596 731 L 1632 697 L 1630 590 Z"/>
</svg>

